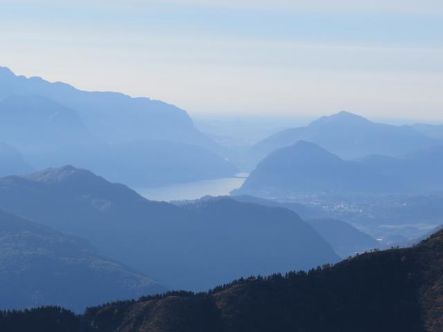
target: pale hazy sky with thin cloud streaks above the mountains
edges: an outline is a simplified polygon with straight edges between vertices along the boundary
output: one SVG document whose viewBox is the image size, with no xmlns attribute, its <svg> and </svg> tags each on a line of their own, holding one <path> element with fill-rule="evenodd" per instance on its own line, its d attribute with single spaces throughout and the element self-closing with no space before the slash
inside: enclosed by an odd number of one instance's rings
<svg viewBox="0 0 443 332">
<path fill-rule="evenodd" d="M 0 66 L 192 114 L 443 122 L 441 0 L 2 1 Z"/>
</svg>

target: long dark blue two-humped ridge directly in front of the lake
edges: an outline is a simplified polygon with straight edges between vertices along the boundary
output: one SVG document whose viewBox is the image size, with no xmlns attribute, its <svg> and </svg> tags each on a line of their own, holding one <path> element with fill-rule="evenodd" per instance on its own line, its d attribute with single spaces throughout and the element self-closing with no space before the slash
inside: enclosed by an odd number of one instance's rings
<svg viewBox="0 0 443 332">
<path fill-rule="evenodd" d="M 201 291 L 339 259 L 287 209 L 227 197 L 177 207 L 69 166 L 1 178 L 0 208 L 84 237 L 168 288 Z"/>
</svg>

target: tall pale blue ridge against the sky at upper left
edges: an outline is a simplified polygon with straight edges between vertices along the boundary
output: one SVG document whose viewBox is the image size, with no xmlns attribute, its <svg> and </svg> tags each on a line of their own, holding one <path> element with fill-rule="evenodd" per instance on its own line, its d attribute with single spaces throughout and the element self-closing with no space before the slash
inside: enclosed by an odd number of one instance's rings
<svg viewBox="0 0 443 332">
<path fill-rule="evenodd" d="M 197 131 L 186 111 L 149 98 L 123 93 L 87 92 L 40 77 L 16 76 L 0 67 L 0 99 L 8 95 L 41 95 L 78 112 L 91 133 L 105 142 L 172 140 L 214 147 Z"/>
</svg>

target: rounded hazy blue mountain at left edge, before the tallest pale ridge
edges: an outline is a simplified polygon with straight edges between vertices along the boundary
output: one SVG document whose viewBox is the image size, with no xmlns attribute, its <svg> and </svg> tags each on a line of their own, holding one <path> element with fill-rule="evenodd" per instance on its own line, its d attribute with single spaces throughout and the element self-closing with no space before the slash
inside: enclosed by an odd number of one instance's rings
<svg viewBox="0 0 443 332">
<path fill-rule="evenodd" d="M 0 101 L 0 140 L 17 147 L 37 168 L 82 165 L 81 160 L 93 160 L 106 149 L 75 111 L 41 96 L 10 96 Z"/>
</svg>

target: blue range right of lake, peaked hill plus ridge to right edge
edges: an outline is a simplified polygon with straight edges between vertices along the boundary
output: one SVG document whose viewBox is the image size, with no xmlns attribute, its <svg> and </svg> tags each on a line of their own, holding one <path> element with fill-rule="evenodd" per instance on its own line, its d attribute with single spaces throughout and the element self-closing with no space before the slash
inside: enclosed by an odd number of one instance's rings
<svg viewBox="0 0 443 332">
<path fill-rule="evenodd" d="M 403 157 L 343 160 L 323 147 L 299 141 L 264 158 L 233 194 L 287 197 L 305 194 L 419 193 L 443 189 L 443 148 Z"/>
</svg>

